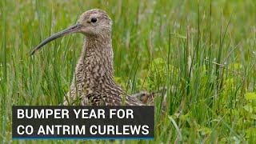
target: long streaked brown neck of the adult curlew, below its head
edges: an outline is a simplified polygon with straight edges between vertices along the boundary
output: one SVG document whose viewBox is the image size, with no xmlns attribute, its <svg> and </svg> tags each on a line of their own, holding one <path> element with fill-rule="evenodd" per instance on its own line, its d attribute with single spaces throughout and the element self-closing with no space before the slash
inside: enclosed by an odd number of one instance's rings
<svg viewBox="0 0 256 144">
<path fill-rule="evenodd" d="M 89 93 L 90 90 L 103 90 L 104 86 L 115 86 L 113 56 L 111 36 L 86 37 L 76 75 Z"/>
</svg>

